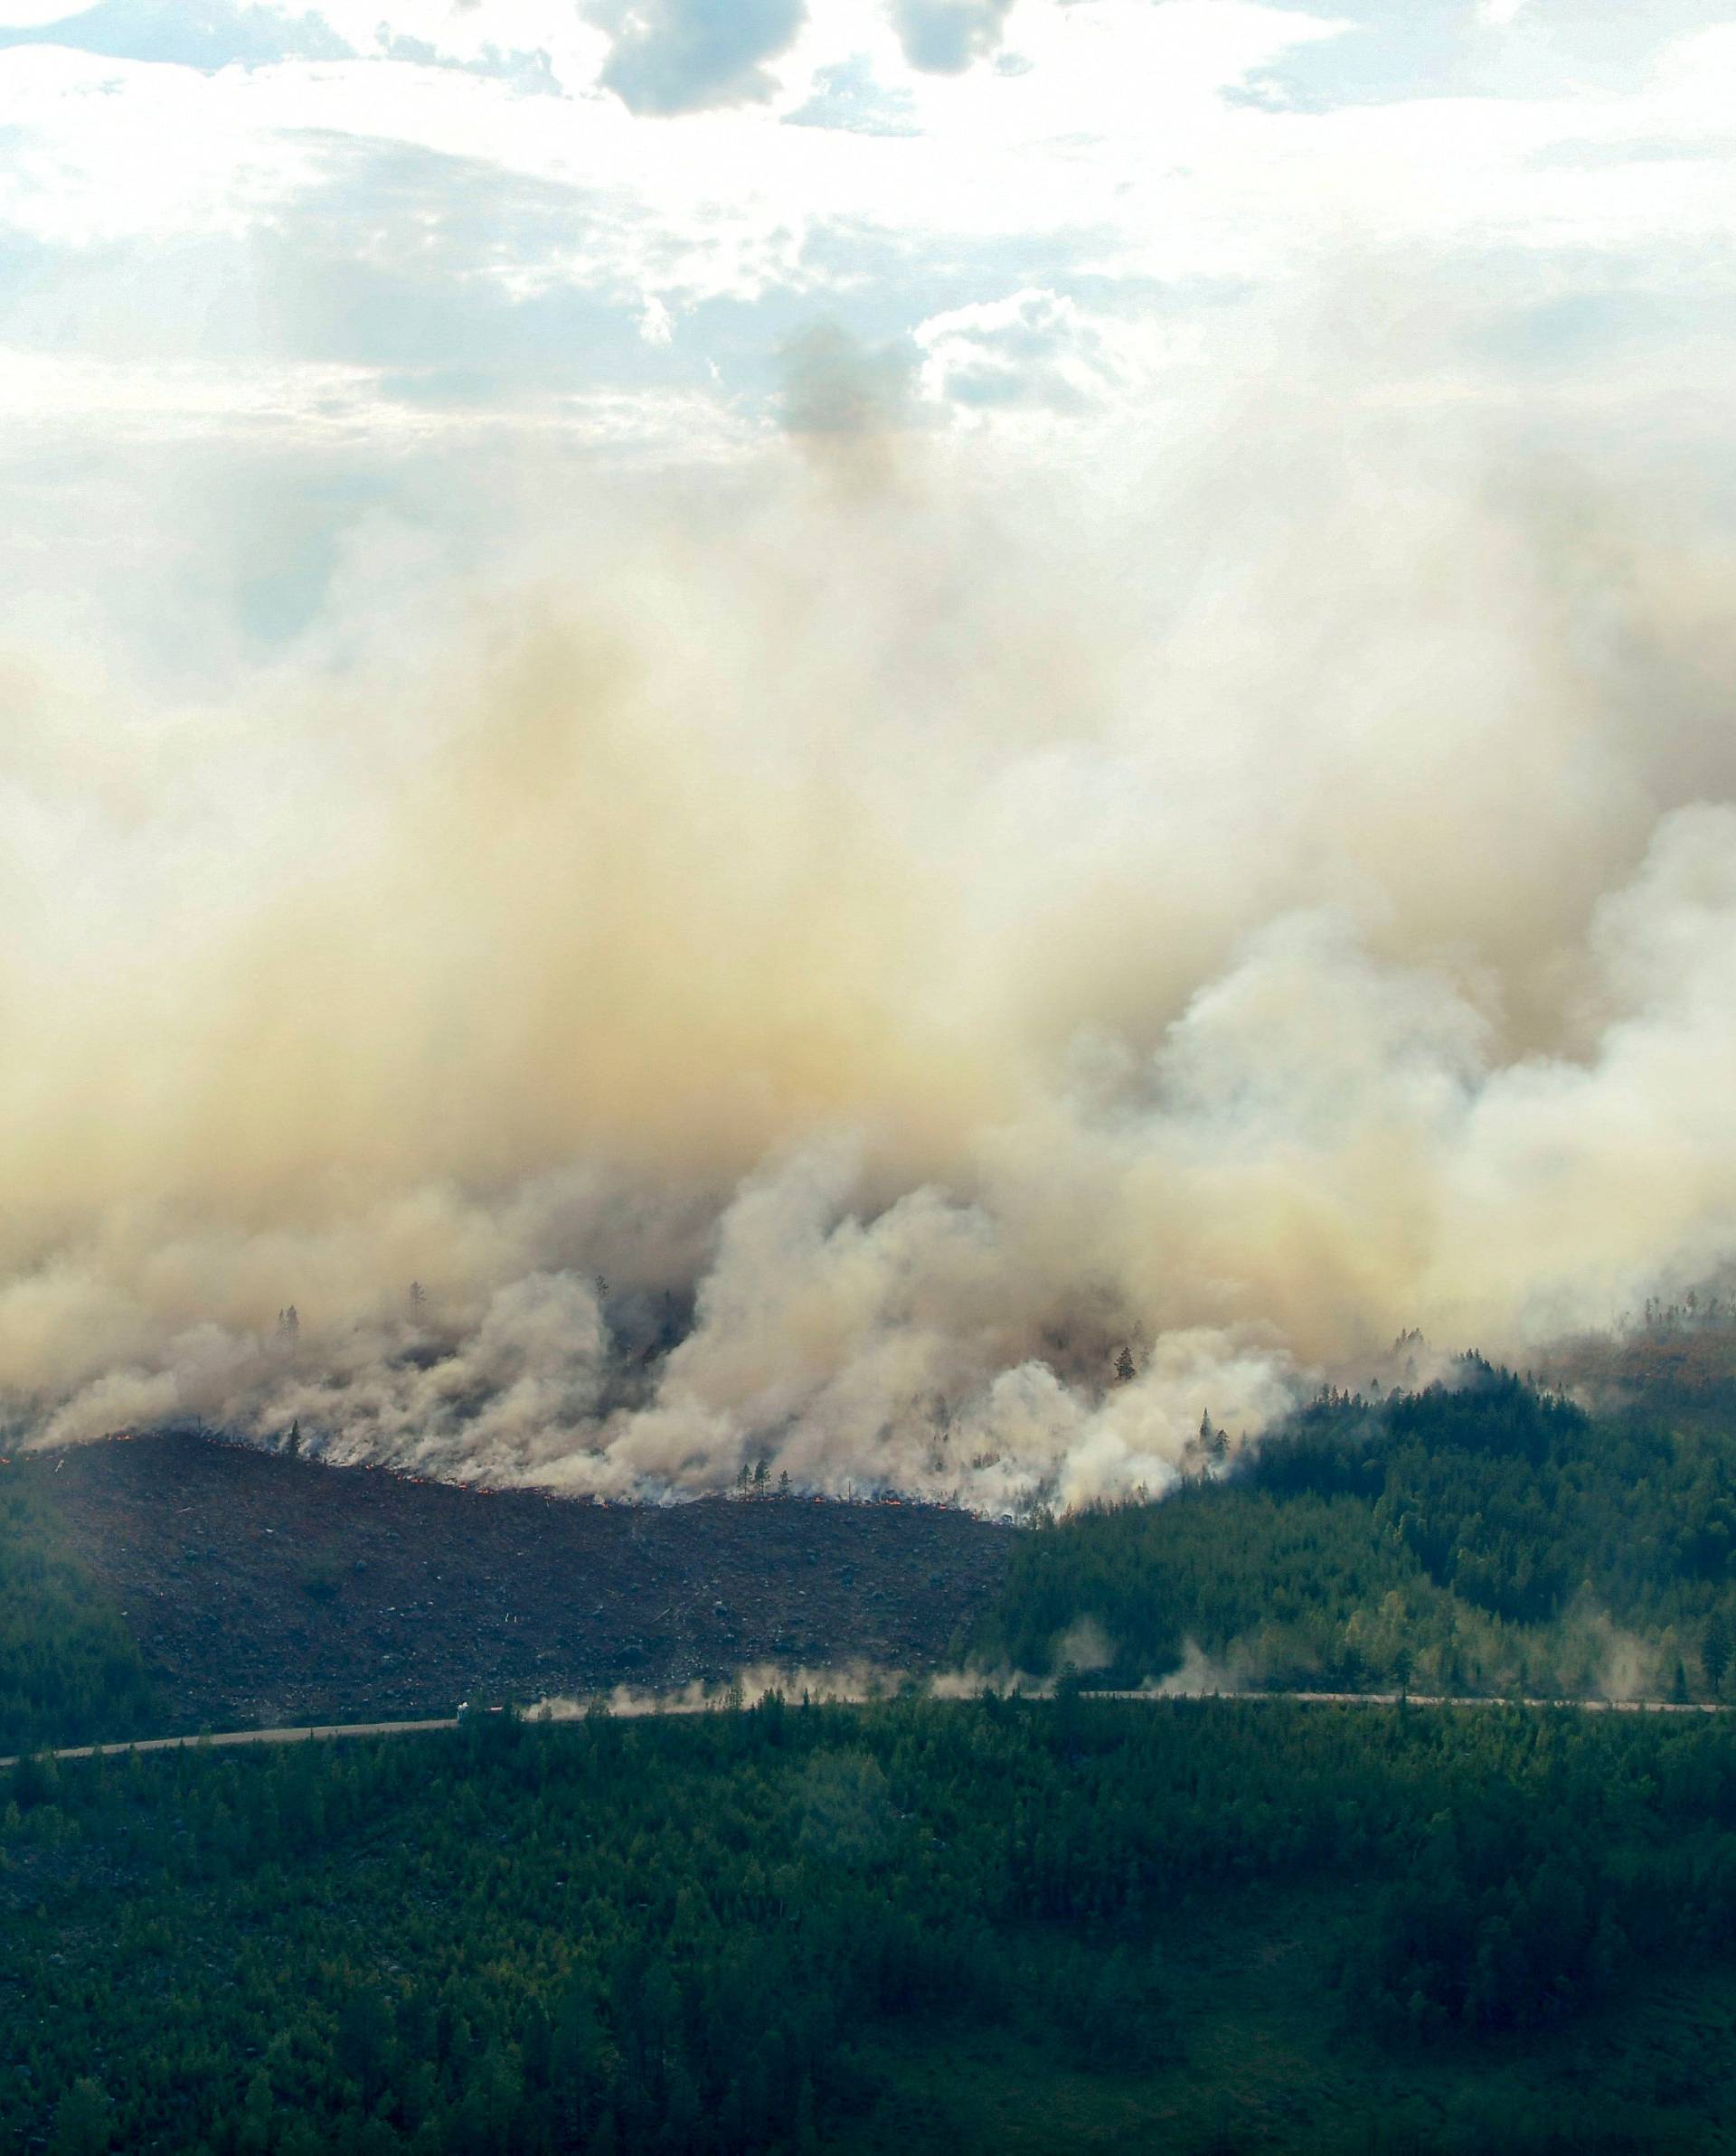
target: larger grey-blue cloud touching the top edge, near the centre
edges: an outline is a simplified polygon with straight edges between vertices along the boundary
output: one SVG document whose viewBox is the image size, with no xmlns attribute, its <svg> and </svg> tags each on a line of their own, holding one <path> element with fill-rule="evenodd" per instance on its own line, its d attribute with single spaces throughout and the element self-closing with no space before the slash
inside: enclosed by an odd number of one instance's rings
<svg viewBox="0 0 1736 2156">
<path fill-rule="evenodd" d="M 593 0 L 612 47 L 604 88 L 630 112 L 669 116 L 761 103 L 776 91 L 766 60 L 802 28 L 804 0 Z"/>
</svg>

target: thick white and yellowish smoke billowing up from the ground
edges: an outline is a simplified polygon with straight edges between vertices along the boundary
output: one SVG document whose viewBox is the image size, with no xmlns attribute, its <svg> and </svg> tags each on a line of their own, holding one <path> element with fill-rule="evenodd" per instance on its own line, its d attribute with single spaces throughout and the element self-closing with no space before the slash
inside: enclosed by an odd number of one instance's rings
<svg viewBox="0 0 1736 2156">
<path fill-rule="evenodd" d="M 17 1429 L 1076 1503 L 1730 1259 L 1727 535 L 1169 427 L 597 483 L 201 703 L 15 638 Z"/>
</svg>

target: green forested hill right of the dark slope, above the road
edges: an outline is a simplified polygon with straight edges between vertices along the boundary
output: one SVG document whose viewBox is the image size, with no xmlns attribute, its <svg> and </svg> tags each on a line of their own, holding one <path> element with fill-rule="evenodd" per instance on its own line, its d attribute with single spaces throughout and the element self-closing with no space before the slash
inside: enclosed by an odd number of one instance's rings
<svg viewBox="0 0 1736 2156">
<path fill-rule="evenodd" d="M 1462 1380 L 1322 1397 L 1227 1475 L 1039 1522 L 975 1656 L 1139 1684 L 1193 1643 L 1244 1686 L 1727 1697 L 1725 1429 Z"/>
</svg>

